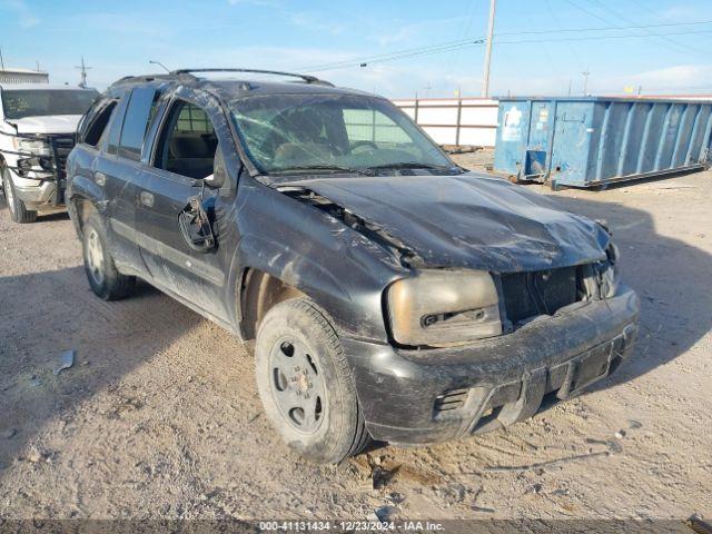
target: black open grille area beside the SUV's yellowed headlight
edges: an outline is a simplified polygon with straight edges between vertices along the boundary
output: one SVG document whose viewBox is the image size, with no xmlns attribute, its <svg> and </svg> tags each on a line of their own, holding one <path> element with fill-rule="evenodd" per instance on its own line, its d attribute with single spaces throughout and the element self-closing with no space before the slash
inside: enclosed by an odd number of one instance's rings
<svg viewBox="0 0 712 534">
<path fill-rule="evenodd" d="M 507 318 L 512 323 L 536 315 L 553 315 L 576 301 L 576 268 L 502 275 Z"/>
</svg>

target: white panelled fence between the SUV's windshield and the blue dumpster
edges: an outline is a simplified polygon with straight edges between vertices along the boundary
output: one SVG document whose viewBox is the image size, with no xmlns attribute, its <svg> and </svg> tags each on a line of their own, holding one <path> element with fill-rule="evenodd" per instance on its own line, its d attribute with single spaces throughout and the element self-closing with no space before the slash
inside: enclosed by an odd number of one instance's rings
<svg viewBox="0 0 712 534">
<path fill-rule="evenodd" d="M 497 100 L 485 98 L 393 100 L 438 145 L 494 147 Z"/>
</svg>

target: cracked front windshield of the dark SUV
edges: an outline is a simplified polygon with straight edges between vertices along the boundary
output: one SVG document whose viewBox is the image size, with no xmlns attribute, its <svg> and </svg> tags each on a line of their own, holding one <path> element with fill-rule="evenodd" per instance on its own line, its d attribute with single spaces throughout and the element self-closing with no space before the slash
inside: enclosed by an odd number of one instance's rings
<svg viewBox="0 0 712 534">
<path fill-rule="evenodd" d="M 279 95 L 234 100 L 230 108 L 264 172 L 454 168 L 407 118 L 377 98 Z"/>
</svg>

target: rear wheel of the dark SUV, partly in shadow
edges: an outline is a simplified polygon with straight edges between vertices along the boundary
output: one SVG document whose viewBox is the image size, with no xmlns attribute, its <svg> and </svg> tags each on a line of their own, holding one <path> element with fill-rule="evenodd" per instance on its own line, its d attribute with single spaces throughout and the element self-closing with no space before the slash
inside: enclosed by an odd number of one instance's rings
<svg viewBox="0 0 712 534">
<path fill-rule="evenodd" d="M 118 300 L 131 293 L 134 276 L 118 271 L 108 247 L 103 222 L 98 215 L 90 215 L 82 229 L 85 271 L 91 290 L 105 300 Z"/>
</svg>

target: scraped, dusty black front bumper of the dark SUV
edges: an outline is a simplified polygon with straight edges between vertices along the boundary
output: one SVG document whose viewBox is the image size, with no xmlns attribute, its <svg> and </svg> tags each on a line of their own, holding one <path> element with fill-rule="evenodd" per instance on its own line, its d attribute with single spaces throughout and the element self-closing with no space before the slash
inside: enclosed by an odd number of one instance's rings
<svg viewBox="0 0 712 534">
<path fill-rule="evenodd" d="M 343 338 L 366 426 L 376 439 L 443 442 L 534 415 L 552 394 L 565 399 L 613 373 L 631 354 L 640 300 L 622 287 L 516 332 L 423 350 Z"/>
</svg>

